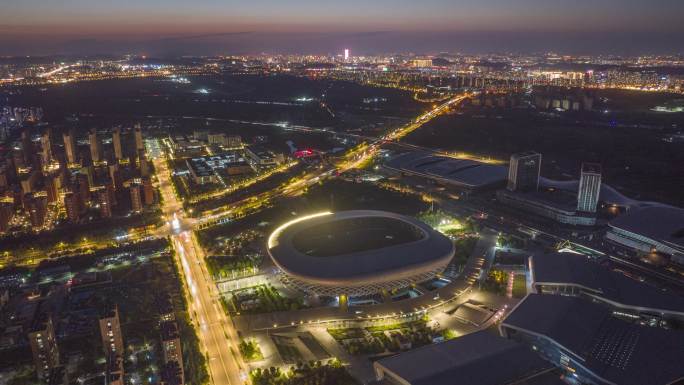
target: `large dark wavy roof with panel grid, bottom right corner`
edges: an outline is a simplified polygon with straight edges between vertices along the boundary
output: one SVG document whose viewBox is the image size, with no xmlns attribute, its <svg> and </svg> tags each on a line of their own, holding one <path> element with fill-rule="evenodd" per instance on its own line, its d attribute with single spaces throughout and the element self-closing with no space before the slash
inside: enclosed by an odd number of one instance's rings
<svg viewBox="0 0 684 385">
<path fill-rule="evenodd" d="M 657 385 L 684 378 L 684 332 L 615 318 L 607 307 L 583 298 L 528 295 L 502 327 L 553 340 L 612 383 Z"/>
</svg>

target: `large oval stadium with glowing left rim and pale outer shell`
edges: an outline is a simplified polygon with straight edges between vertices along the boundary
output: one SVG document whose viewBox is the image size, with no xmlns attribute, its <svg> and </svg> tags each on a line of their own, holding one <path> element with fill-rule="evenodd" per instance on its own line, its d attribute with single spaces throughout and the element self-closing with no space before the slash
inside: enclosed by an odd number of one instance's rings
<svg viewBox="0 0 684 385">
<path fill-rule="evenodd" d="M 454 245 L 414 218 L 356 210 L 285 223 L 269 237 L 268 253 L 301 290 L 361 296 L 434 277 L 451 261 Z"/>
</svg>

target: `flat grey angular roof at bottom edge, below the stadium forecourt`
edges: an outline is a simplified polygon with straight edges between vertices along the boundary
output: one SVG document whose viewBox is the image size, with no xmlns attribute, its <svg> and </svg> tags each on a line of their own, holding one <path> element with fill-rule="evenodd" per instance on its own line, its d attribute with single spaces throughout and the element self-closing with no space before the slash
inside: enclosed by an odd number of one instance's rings
<svg viewBox="0 0 684 385">
<path fill-rule="evenodd" d="M 382 359 L 375 365 L 411 385 L 501 385 L 553 367 L 527 346 L 488 331 L 427 345 Z"/>
</svg>

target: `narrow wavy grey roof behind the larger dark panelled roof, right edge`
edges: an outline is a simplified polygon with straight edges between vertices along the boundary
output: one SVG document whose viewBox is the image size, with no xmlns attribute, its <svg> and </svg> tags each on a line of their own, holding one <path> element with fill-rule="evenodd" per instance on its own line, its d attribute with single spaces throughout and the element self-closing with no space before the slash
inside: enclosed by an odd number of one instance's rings
<svg viewBox="0 0 684 385">
<path fill-rule="evenodd" d="M 598 297 L 620 305 L 684 315 L 684 297 L 636 281 L 574 253 L 551 253 L 532 257 L 535 283 L 568 283 L 583 286 Z"/>
</svg>

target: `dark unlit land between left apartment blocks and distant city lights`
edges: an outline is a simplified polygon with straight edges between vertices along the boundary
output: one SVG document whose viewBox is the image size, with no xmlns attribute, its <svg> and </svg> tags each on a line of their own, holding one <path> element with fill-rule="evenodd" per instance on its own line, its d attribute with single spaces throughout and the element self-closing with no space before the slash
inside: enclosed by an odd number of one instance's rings
<svg viewBox="0 0 684 385">
<path fill-rule="evenodd" d="M 67 116 L 78 116 L 103 127 L 145 118 L 184 118 L 188 128 L 193 128 L 192 118 L 198 118 L 203 125 L 230 123 L 211 120 L 226 119 L 346 130 L 410 119 L 426 108 L 404 91 L 339 81 L 284 75 L 189 80 L 190 84 L 169 79 L 120 79 L 22 87 L 6 90 L 5 96 L 10 105 L 42 106 L 44 120 L 52 124 L 63 123 Z M 373 97 L 387 101 L 364 103 L 365 98 Z"/>
</svg>

